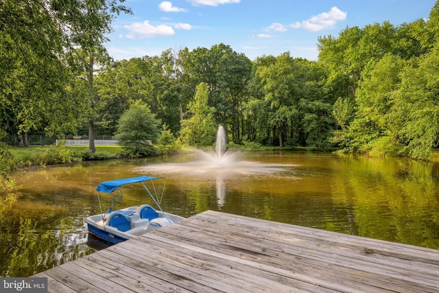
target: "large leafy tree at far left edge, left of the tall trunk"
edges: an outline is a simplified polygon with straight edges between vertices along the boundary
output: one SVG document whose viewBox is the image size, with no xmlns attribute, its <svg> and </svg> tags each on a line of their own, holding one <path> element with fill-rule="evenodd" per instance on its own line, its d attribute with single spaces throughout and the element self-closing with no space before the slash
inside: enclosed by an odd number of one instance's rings
<svg viewBox="0 0 439 293">
<path fill-rule="evenodd" d="M 0 5 L 0 124 L 14 134 L 70 130 L 80 115 L 80 101 L 66 91 L 67 23 L 58 23 L 51 2 Z"/>
</svg>

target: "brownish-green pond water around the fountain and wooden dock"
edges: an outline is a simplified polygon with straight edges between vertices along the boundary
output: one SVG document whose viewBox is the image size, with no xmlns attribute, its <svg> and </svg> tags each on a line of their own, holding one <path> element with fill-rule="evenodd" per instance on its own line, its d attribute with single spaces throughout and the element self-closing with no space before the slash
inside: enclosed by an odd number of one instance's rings
<svg viewBox="0 0 439 293">
<path fill-rule="evenodd" d="M 208 209 L 439 249 L 439 165 L 326 153 L 244 153 L 220 166 L 195 154 L 16 172 L 16 202 L 0 205 L 0 276 L 27 277 L 101 248 L 84 219 L 104 180 L 165 176 L 165 211 Z M 124 191 L 138 205 L 141 189 Z M 143 195 L 143 193 L 142 193 Z M 147 200 L 150 202 L 150 200 Z M 152 203 L 152 202 L 150 202 Z"/>
</svg>

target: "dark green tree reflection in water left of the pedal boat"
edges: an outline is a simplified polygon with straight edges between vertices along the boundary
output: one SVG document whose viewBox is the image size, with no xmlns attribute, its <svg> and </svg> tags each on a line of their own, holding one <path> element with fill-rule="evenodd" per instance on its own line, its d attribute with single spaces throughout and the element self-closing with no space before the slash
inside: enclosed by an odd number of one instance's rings
<svg viewBox="0 0 439 293">
<path fill-rule="evenodd" d="M 10 206 L 12 207 L 12 205 Z M 2 209 L 0 259 L 2 277 L 27 277 L 77 259 L 88 253 L 86 231 L 78 230 L 81 219 L 60 218 L 59 213 L 43 213 L 26 218 Z"/>
</svg>

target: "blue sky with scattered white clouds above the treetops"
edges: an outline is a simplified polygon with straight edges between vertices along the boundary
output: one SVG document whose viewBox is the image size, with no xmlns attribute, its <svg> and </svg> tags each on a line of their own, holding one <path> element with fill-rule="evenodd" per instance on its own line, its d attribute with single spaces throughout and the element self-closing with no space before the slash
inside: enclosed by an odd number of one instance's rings
<svg viewBox="0 0 439 293">
<path fill-rule="evenodd" d="M 317 60 L 319 36 L 346 27 L 428 19 L 436 0 L 127 0 L 106 47 L 116 60 L 159 56 L 165 49 L 210 49 L 224 43 L 250 60 L 291 56 Z"/>
</svg>

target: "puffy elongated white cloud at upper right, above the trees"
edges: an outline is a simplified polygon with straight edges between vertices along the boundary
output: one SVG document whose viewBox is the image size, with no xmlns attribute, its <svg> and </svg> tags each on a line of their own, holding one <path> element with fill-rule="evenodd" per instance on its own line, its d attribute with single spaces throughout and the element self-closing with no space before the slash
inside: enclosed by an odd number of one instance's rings
<svg viewBox="0 0 439 293">
<path fill-rule="evenodd" d="M 323 12 L 316 16 L 302 21 L 302 23 L 296 22 L 289 25 L 294 29 L 302 28 L 303 30 L 318 32 L 327 28 L 332 28 L 335 26 L 337 21 L 344 21 L 346 19 L 347 12 L 344 12 L 337 7 L 331 8 L 329 12 Z"/>
</svg>

